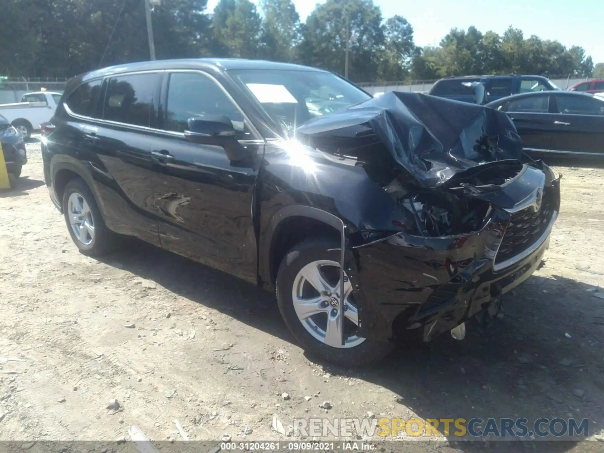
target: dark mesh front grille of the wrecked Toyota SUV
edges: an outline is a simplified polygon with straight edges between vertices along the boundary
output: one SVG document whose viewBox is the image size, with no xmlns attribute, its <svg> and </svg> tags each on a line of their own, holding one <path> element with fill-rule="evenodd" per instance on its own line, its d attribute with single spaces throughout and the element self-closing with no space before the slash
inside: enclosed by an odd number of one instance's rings
<svg viewBox="0 0 604 453">
<path fill-rule="evenodd" d="M 539 211 L 533 212 L 532 208 L 527 208 L 513 213 L 495 256 L 495 264 L 503 263 L 521 254 L 537 242 L 547 230 L 554 210 L 556 210 L 556 204 L 553 190 L 545 188 Z"/>
</svg>

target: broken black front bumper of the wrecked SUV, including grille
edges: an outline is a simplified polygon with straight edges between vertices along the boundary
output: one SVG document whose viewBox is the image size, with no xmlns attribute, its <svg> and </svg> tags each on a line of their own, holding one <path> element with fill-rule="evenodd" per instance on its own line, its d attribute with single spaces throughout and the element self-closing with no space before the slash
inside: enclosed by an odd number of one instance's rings
<svg viewBox="0 0 604 453">
<path fill-rule="evenodd" d="M 500 296 L 540 265 L 559 206 L 559 179 L 550 178 L 515 207 L 495 208 L 475 233 L 397 233 L 350 246 L 358 335 L 386 340 L 399 329 L 420 329 L 429 341 L 478 313 L 496 312 Z"/>
</svg>

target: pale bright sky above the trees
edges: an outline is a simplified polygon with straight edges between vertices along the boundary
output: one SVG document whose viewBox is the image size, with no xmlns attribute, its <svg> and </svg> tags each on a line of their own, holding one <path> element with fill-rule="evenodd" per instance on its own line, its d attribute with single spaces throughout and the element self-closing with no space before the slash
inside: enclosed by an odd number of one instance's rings
<svg viewBox="0 0 604 453">
<path fill-rule="evenodd" d="M 252 0 L 255 3 L 258 0 Z M 293 0 L 304 20 L 324 0 Z M 594 63 L 604 62 L 604 0 L 373 0 L 385 18 L 400 14 L 414 29 L 417 45 L 438 45 L 452 27 L 474 25 L 483 33 L 503 33 L 509 25 L 559 40 L 567 47 L 579 45 Z M 213 10 L 218 0 L 209 0 Z"/>
</svg>

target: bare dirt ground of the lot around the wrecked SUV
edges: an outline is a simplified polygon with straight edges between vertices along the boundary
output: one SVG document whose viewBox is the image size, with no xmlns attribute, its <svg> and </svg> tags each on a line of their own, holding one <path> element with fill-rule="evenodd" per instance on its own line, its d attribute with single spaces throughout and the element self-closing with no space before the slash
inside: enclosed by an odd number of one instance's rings
<svg viewBox="0 0 604 453">
<path fill-rule="evenodd" d="M 0 440 L 114 441 L 137 425 L 178 441 L 178 419 L 191 440 L 286 441 L 273 416 L 288 429 L 297 417 L 368 412 L 588 418 L 590 437 L 604 440 L 602 167 L 554 167 L 562 208 L 546 264 L 506 295 L 503 319 L 470 326 L 461 342 L 400 345 L 359 371 L 316 364 L 274 296 L 230 275 L 134 240 L 103 260 L 80 254 L 48 198 L 39 145 L 28 152 L 18 187 L 0 193 L 0 357 L 24 359 L 0 359 Z M 119 411 L 107 408 L 113 398 Z M 448 440 L 413 451 L 484 448 Z M 552 445 L 604 450 L 596 440 Z"/>
</svg>

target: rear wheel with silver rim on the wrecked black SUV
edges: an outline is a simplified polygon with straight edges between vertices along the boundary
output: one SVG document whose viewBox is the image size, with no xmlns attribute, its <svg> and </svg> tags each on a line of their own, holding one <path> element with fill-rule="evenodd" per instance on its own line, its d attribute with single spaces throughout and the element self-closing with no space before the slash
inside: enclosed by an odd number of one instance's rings
<svg viewBox="0 0 604 453">
<path fill-rule="evenodd" d="M 85 255 L 112 251 L 117 240 L 105 225 L 92 191 L 81 178 L 71 179 L 63 192 L 63 216 L 69 236 Z"/>
</svg>

